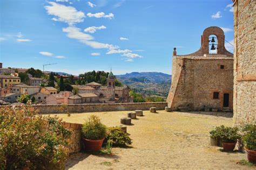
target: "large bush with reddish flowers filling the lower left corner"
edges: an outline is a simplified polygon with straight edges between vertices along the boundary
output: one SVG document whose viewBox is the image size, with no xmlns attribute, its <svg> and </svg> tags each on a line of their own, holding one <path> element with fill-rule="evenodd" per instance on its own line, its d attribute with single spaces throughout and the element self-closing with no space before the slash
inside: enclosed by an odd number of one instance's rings
<svg viewBox="0 0 256 170">
<path fill-rule="evenodd" d="M 37 115 L 29 106 L 4 107 L 0 129 L 0 169 L 63 168 L 71 132 L 57 117 Z"/>
</svg>

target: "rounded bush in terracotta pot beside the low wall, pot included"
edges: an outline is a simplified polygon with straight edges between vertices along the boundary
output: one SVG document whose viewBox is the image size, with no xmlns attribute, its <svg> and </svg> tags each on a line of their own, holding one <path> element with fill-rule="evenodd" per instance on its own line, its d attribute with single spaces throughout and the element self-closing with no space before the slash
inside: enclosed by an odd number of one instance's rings
<svg viewBox="0 0 256 170">
<path fill-rule="evenodd" d="M 99 117 L 91 115 L 82 127 L 84 148 L 87 151 L 99 151 L 106 137 L 106 126 Z"/>
</svg>

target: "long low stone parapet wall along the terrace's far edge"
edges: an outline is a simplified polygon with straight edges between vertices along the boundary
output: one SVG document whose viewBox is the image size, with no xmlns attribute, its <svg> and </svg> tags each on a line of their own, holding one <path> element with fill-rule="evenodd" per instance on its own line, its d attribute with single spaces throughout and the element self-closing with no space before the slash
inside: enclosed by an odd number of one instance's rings
<svg viewBox="0 0 256 170">
<path fill-rule="evenodd" d="M 63 110 L 63 105 L 45 104 L 32 105 L 39 114 L 57 114 L 65 111 L 71 113 L 79 112 L 97 112 L 97 111 L 121 111 L 121 110 L 149 110 L 151 107 L 156 107 L 158 110 L 164 110 L 167 102 L 149 102 L 149 103 L 107 103 L 107 104 L 66 104 Z M 4 106 L 2 106 L 4 107 Z M 18 108 L 19 106 L 16 106 Z"/>
</svg>

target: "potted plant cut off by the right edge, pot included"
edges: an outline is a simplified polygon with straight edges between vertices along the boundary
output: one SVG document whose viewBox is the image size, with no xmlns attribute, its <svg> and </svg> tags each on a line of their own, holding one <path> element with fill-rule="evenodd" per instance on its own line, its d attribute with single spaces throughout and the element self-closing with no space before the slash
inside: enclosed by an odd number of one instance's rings
<svg viewBox="0 0 256 170">
<path fill-rule="evenodd" d="M 242 142 L 249 162 L 256 164 L 256 124 L 247 124 L 242 129 Z"/>
</svg>

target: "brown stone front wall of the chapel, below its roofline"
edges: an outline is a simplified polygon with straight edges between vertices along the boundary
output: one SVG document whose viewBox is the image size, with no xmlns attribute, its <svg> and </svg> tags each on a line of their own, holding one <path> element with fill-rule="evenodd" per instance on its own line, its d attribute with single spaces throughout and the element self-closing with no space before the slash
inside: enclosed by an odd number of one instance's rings
<svg viewBox="0 0 256 170">
<path fill-rule="evenodd" d="M 183 63 L 183 69 L 179 79 L 174 75 L 178 83 L 172 83 L 169 97 L 174 97 L 169 107 L 176 110 L 188 105 L 192 110 L 205 107 L 223 110 L 223 96 L 228 93 L 229 107 L 233 109 L 233 60 L 177 59 L 177 63 Z M 224 69 L 220 69 L 220 65 L 224 65 Z M 177 88 L 173 94 L 174 85 Z M 219 92 L 218 99 L 213 99 L 213 92 Z"/>
</svg>

